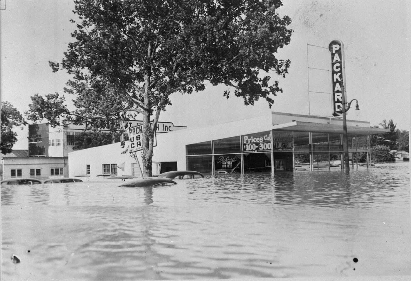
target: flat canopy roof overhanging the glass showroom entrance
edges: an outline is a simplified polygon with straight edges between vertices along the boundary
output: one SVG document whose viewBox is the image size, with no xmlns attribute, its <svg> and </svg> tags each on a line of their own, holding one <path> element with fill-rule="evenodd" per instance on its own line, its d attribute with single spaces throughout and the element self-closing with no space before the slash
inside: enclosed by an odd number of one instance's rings
<svg viewBox="0 0 411 281">
<path fill-rule="evenodd" d="M 317 133 L 335 133 L 343 134 L 342 125 L 336 124 L 321 124 L 312 122 L 294 121 L 284 124 L 274 125 L 273 130 L 281 131 L 303 131 L 303 132 L 317 132 Z M 389 132 L 390 129 L 380 129 L 371 127 L 347 126 L 347 132 L 351 135 L 374 135 Z"/>
</svg>

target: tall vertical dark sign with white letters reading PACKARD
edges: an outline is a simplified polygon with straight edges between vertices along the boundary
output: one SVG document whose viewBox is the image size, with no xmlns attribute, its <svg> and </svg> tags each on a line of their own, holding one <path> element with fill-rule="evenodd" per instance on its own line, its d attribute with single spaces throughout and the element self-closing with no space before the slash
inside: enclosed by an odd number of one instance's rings
<svg viewBox="0 0 411 281">
<path fill-rule="evenodd" d="M 342 116 L 342 95 L 345 92 L 343 92 L 344 44 L 338 39 L 332 40 L 328 50 L 331 52 L 332 115 Z"/>
</svg>

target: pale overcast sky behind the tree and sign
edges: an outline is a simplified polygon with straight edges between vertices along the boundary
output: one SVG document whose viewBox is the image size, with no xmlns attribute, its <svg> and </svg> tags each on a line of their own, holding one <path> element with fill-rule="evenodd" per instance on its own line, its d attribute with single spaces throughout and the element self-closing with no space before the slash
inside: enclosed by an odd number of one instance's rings
<svg viewBox="0 0 411 281">
<path fill-rule="evenodd" d="M 4 5 L 5 0 L 0 0 Z M 410 128 L 410 5 L 405 0 L 284 0 L 280 15 L 288 15 L 294 30 L 291 44 L 277 58 L 290 59 L 284 90 L 272 109 L 264 100 L 244 106 L 236 97 L 222 97 L 226 86 L 207 87 L 191 95 L 174 94 L 173 106 L 160 121 L 203 127 L 262 115 L 270 111 L 330 115 L 331 74 L 328 44 L 340 39 L 345 47 L 347 98 L 358 99 L 361 114 L 347 118 L 378 125 L 393 119 L 398 129 Z M 408 6 L 408 7 L 407 7 Z M 77 19 L 68 0 L 6 0 L 0 11 L 1 99 L 19 111 L 28 109 L 30 96 L 59 92 L 70 78 L 53 73 L 48 61 L 60 62 Z M 309 67 L 325 69 L 316 70 Z M 66 95 L 66 99 L 72 99 Z M 18 130 L 14 149 L 28 149 L 28 130 Z"/>
</svg>

